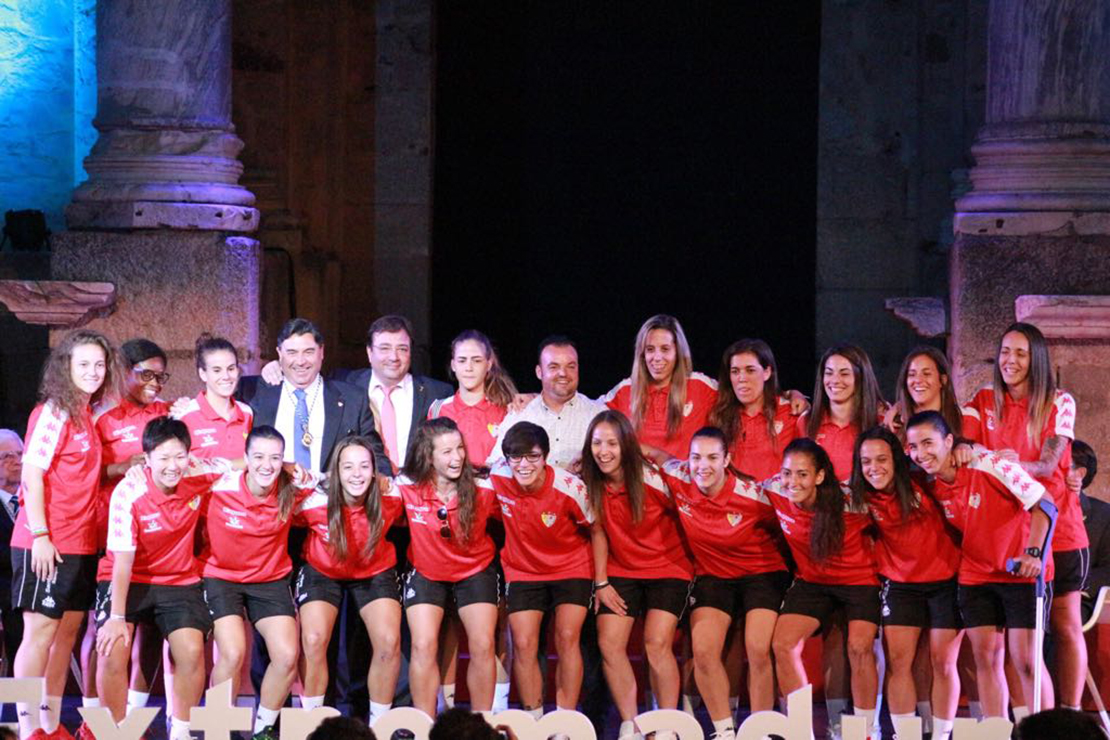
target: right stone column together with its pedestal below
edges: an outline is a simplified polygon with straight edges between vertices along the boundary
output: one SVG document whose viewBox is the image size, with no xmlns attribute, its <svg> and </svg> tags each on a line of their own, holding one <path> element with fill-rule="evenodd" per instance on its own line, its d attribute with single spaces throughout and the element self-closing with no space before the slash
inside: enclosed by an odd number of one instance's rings
<svg viewBox="0 0 1110 740">
<path fill-rule="evenodd" d="M 1018 296 L 1110 295 L 1110 3 L 991 0 L 987 80 L 950 262 L 963 397 L 989 381 Z M 1110 343 L 1048 334 L 1078 434 L 1110 458 Z"/>
</svg>

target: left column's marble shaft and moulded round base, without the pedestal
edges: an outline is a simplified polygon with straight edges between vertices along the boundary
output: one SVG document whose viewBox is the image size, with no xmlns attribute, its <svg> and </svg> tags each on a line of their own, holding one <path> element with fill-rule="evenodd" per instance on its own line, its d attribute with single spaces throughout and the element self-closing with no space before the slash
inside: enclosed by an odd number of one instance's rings
<svg viewBox="0 0 1110 740">
<path fill-rule="evenodd" d="M 100 132 L 70 229 L 258 227 L 231 123 L 231 0 L 97 2 Z"/>
</svg>

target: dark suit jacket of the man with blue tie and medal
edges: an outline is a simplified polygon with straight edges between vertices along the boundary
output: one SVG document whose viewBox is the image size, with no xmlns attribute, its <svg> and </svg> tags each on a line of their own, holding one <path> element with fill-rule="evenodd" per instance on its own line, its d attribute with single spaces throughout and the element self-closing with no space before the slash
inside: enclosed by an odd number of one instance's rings
<svg viewBox="0 0 1110 740">
<path fill-rule="evenodd" d="M 250 375 L 239 382 L 239 396 L 254 412 L 254 424 L 274 426 L 278 419 L 278 404 L 281 402 L 281 386 L 270 385 L 258 375 Z M 382 438 L 374 430 L 374 414 L 365 391 L 350 383 L 324 381 L 321 403 L 324 405 L 324 436 L 320 447 L 320 466 L 327 467 L 335 443 L 343 437 L 359 434 L 371 438 L 374 446 L 374 468 L 383 475 L 393 475 L 390 458 L 385 455 Z M 286 440 L 289 444 L 289 440 Z"/>
</svg>

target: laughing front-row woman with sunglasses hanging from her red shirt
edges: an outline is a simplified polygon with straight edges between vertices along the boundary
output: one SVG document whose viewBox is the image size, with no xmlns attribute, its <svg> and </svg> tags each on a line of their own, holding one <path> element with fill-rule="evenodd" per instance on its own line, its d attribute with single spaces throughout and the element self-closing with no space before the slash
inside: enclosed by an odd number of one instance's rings
<svg viewBox="0 0 1110 740">
<path fill-rule="evenodd" d="M 440 685 L 440 627 L 454 604 L 466 631 L 471 707 L 488 711 L 496 678 L 497 569 L 486 520 L 493 491 L 480 487 L 466 444 L 450 418 L 423 422 L 402 475 L 394 480 L 404 501 L 411 540 L 405 577 L 405 618 L 412 632 L 408 685 L 413 706 L 435 716 Z"/>
</svg>

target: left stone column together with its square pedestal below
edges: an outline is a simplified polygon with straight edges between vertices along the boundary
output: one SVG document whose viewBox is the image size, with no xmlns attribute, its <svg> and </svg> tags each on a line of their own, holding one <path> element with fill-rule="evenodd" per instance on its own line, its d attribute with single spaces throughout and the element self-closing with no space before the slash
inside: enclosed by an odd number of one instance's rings
<svg viewBox="0 0 1110 740">
<path fill-rule="evenodd" d="M 231 0 L 98 0 L 97 79 L 100 138 L 70 230 L 53 239 L 51 277 L 115 286 L 114 312 L 89 326 L 115 343 L 159 343 L 168 397 L 196 392 L 201 332 L 256 368 L 262 257 L 242 235 L 259 214 L 238 184 Z"/>
</svg>

